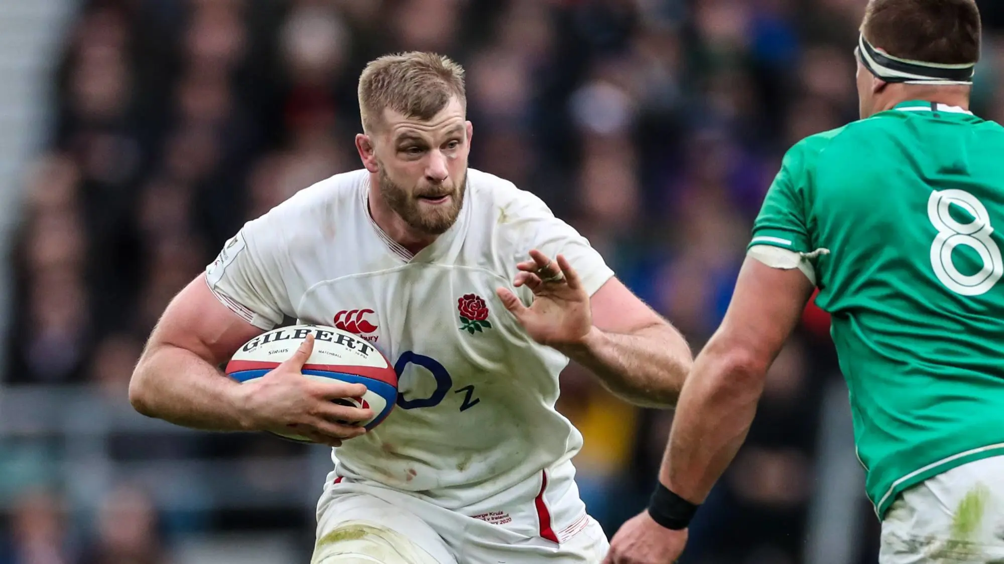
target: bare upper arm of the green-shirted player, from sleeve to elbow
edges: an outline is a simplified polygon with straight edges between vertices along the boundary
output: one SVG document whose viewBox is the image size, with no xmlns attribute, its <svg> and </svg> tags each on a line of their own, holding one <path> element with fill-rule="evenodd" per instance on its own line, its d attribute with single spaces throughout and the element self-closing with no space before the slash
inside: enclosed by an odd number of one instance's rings
<svg viewBox="0 0 1004 564">
<path fill-rule="evenodd" d="M 742 354 L 766 370 L 801 319 L 812 283 L 798 269 L 769 267 L 747 257 L 715 348 Z M 709 343 L 712 346 L 712 343 Z"/>
</svg>

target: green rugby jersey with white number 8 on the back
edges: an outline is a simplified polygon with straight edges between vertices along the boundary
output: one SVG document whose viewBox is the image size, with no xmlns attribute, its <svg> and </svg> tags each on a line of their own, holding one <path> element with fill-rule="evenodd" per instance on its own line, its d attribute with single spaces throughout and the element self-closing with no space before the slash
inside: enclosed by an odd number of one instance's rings
<svg viewBox="0 0 1004 564">
<path fill-rule="evenodd" d="M 906 102 L 784 158 L 750 246 L 813 256 L 883 518 L 897 495 L 1004 455 L 1004 127 Z"/>
</svg>

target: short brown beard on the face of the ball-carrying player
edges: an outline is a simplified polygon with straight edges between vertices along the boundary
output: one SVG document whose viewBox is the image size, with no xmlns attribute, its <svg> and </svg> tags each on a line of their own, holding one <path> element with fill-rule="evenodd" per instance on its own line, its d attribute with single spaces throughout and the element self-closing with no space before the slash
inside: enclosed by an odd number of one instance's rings
<svg viewBox="0 0 1004 564">
<path fill-rule="evenodd" d="M 379 173 L 380 194 L 388 206 L 412 229 L 428 235 L 442 235 L 460 216 L 467 192 L 467 170 L 459 185 L 417 188 L 414 192 L 391 180 L 382 166 Z M 448 204 L 423 204 L 422 198 L 450 196 Z"/>
</svg>

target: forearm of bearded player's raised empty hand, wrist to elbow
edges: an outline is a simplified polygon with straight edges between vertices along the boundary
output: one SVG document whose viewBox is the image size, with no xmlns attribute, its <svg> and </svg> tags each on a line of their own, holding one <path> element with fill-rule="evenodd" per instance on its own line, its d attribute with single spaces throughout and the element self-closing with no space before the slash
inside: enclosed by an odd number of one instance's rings
<svg viewBox="0 0 1004 564">
<path fill-rule="evenodd" d="M 611 392 L 652 407 L 676 403 L 693 362 L 686 340 L 669 323 L 633 334 L 593 327 L 581 345 L 562 352 L 589 368 Z"/>
</svg>

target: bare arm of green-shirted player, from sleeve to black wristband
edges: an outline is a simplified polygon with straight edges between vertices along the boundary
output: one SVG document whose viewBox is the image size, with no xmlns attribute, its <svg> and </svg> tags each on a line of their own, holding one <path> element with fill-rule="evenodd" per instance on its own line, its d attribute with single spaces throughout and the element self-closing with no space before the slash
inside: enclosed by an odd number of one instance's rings
<svg viewBox="0 0 1004 564">
<path fill-rule="evenodd" d="M 700 504 L 742 446 L 767 369 L 812 292 L 797 269 L 747 258 L 732 303 L 694 362 L 677 406 L 660 481 Z"/>
</svg>

